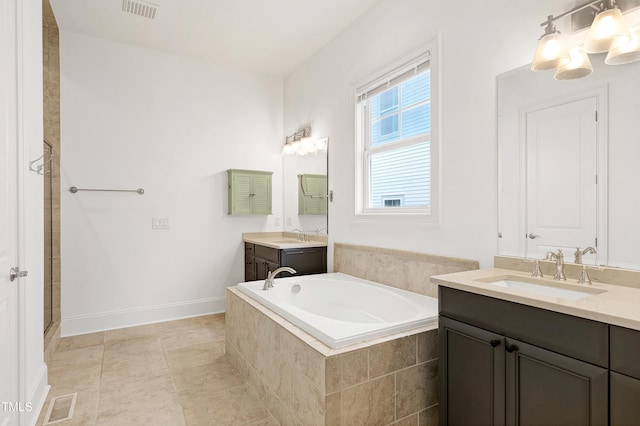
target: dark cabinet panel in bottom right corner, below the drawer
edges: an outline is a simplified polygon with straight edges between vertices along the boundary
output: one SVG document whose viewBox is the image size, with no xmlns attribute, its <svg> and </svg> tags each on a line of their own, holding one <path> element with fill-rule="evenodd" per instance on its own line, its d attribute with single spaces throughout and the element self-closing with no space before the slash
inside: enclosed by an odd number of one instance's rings
<svg viewBox="0 0 640 426">
<path fill-rule="evenodd" d="M 611 424 L 640 425 L 640 380 L 611 373 Z"/>
</svg>

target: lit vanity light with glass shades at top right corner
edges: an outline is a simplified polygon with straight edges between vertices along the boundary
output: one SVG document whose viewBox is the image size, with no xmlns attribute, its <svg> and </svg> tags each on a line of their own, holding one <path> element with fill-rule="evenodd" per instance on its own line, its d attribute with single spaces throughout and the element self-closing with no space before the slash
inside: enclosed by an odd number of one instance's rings
<svg viewBox="0 0 640 426">
<path fill-rule="evenodd" d="M 553 23 L 587 8 L 594 9 L 596 13 L 584 46 L 574 46 L 567 50 L 560 32 Z M 640 60 L 639 38 L 629 31 L 615 0 L 590 1 L 558 16 L 549 15 L 540 26 L 545 27 L 545 31 L 538 41 L 531 69 L 543 71 L 555 68 L 556 80 L 571 80 L 591 74 L 593 66 L 587 53 L 608 52 L 605 60 L 608 65 Z"/>
</svg>

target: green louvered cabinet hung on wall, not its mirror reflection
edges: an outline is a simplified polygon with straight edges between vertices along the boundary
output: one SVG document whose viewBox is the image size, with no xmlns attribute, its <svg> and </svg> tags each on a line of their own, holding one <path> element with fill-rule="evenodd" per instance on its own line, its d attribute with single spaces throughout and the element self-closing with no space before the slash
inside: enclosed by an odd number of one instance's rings
<svg viewBox="0 0 640 426">
<path fill-rule="evenodd" d="M 271 214 L 271 175 L 258 170 L 227 170 L 230 215 Z"/>
</svg>

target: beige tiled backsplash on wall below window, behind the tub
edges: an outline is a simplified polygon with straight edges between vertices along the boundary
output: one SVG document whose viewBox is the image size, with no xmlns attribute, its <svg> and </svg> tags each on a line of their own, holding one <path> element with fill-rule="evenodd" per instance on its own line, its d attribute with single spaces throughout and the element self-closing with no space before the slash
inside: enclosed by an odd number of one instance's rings
<svg viewBox="0 0 640 426">
<path fill-rule="evenodd" d="M 335 272 L 431 297 L 438 297 L 438 286 L 429 279 L 432 275 L 480 267 L 478 261 L 455 257 L 340 243 L 333 247 Z"/>
</svg>

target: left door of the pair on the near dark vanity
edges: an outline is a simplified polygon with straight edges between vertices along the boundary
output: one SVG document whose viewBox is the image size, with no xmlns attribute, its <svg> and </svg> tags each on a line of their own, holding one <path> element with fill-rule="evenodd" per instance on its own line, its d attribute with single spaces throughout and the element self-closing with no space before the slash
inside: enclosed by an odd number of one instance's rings
<svg viewBox="0 0 640 426">
<path fill-rule="evenodd" d="M 503 337 L 440 317 L 440 424 L 504 425 Z"/>
</svg>

